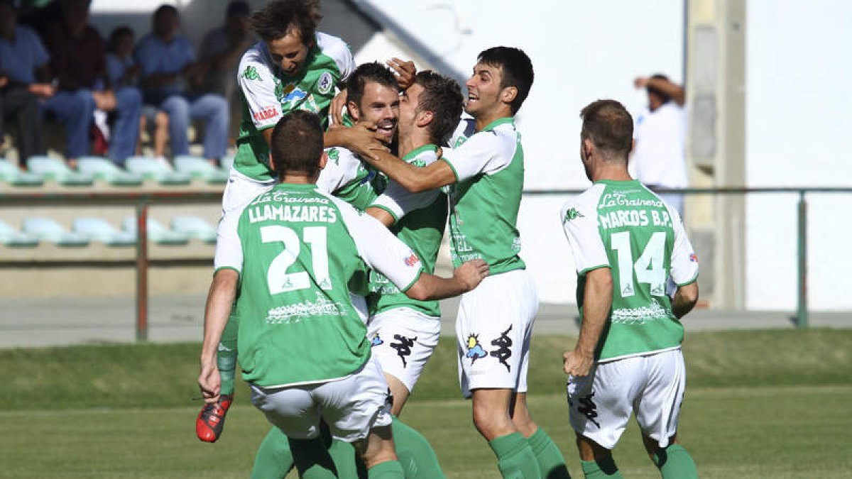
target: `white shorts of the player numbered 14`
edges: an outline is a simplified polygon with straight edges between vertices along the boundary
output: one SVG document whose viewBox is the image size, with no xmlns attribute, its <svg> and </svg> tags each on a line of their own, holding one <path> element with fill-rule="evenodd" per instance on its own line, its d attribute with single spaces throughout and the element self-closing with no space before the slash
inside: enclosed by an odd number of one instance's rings
<svg viewBox="0 0 852 479">
<path fill-rule="evenodd" d="M 632 412 L 642 432 L 667 447 L 677 432 L 685 386 L 679 348 L 602 362 L 588 376 L 568 377 L 568 418 L 578 434 L 612 449 Z"/>
</svg>

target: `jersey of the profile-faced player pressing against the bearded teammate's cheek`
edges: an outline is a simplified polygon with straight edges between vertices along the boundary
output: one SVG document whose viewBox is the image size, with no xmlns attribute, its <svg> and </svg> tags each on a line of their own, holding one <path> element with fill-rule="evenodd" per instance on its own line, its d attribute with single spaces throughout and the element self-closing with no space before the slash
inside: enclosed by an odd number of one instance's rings
<svg viewBox="0 0 852 479">
<path fill-rule="evenodd" d="M 438 147 L 435 145 L 425 145 L 406 154 L 403 160 L 423 168 L 438 159 L 437 150 Z M 390 196 L 383 194 L 383 198 L 378 199 L 377 203 L 371 206 L 389 211 L 383 205 L 387 200 L 394 205 L 401 205 L 404 210 L 414 210 L 401 219 L 398 219 L 399 216 L 394 216 L 394 220 L 397 221 L 390 227 L 390 231 L 417 253 L 417 257 L 423 263 L 423 270 L 432 274 L 435 272 L 435 261 L 438 259 L 440 240 L 444 236 L 446 225 L 446 196 L 437 192 L 408 193 L 404 188 L 399 187 L 399 189 L 400 196 L 404 192 L 405 199 L 394 198 L 394 193 L 386 192 L 390 193 Z M 417 208 L 407 206 L 423 201 L 429 201 L 429 203 L 418 205 Z M 391 214 L 393 215 L 394 212 Z M 376 271 L 371 271 L 370 274 L 370 291 L 371 294 L 367 296 L 367 307 L 371 316 L 389 309 L 410 308 L 424 315 L 440 318 L 440 306 L 437 301 L 417 301 L 407 297 L 404 292 L 394 286 L 391 280 Z"/>
</svg>

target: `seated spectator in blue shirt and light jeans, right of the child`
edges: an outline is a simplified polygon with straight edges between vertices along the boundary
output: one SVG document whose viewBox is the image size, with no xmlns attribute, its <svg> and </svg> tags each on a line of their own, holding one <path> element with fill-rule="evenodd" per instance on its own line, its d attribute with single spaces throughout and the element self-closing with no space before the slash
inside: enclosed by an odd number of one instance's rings
<svg viewBox="0 0 852 479">
<path fill-rule="evenodd" d="M 175 7 L 161 5 L 154 12 L 153 32 L 143 37 L 135 50 L 142 93 L 146 103 L 169 115 L 172 155 L 189 153 L 189 120 L 201 118 L 205 123 L 204 156 L 218 164 L 227 148 L 227 101 L 214 93 L 190 93 L 189 84 L 199 85 L 204 66 L 195 61 L 193 46 L 179 28 Z"/>
</svg>

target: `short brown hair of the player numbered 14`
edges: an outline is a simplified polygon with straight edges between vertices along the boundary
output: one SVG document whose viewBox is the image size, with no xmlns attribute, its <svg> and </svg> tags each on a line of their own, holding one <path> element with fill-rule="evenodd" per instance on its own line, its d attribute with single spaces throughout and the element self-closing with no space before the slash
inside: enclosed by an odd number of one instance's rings
<svg viewBox="0 0 852 479">
<path fill-rule="evenodd" d="M 580 112 L 583 129 L 580 138 L 589 139 L 600 150 L 627 161 L 633 147 L 633 118 L 624 105 L 615 100 L 598 100 Z"/>
</svg>

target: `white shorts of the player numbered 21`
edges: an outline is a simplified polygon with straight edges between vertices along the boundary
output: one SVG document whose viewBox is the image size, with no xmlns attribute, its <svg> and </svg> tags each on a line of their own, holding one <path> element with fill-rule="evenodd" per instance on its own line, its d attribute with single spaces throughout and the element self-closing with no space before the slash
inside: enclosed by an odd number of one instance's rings
<svg viewBox="0 0 852 479">
<path fill-rule="evenodd" d="M 375 358 L 337 381 L 285 388 L 249 384 L 251 403 L 268 421 L 293 439 L 320 434 L 320 417 L 341 441 L 363 439 L 375 427 L 390 425 L 390 392 Z"/>
</svg>

